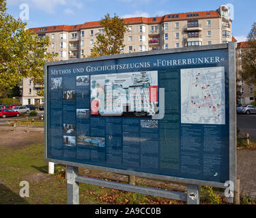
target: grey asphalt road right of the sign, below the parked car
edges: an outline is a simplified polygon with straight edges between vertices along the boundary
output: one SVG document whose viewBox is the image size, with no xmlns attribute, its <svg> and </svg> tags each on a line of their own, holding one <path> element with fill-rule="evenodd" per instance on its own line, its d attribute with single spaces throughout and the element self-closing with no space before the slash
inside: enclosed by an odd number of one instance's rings
<svg viewBox="0 0 256 218">
<path fill-rule="evenodd" d="M 240 131 L 248 133 L 251 139 L 256 141 L 256 114 L 238 114 L 237 123 Z"/>
</svg>

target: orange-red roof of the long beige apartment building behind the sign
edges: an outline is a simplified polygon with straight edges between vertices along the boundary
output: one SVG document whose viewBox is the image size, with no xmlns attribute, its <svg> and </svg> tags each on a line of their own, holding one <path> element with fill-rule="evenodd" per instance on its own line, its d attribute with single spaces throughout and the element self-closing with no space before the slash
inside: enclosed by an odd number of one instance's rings
<svg viewBox="0 0 256 218">
<path fill-rule="evenodd" d="M 180 13 L 180 14 L 167 14 L 165 16 L 157 16 L 152 18 L 124 18 L 124 22 L 129 25 L 134 24 L 147 24 L 154 25 L 160 24 L 162 22 L 168 22 L 173 20 L 191 20 L 191 19 L 202 19 L 202 18 L 219 18 L 221 17 L 218 14 L 218 11 L 207 11 L 207 12 L 189 12 L 189 13 Z M 76 28 L 74 28 L 76 27 Z M 83 25 L 59 25 L 59 26 L 51 26 L 51 27 L 38 27 L 31 28 L 34 33 L 51 33 L 58 31 L 80 31 L 81 29 L 90 29 L 101 27 L 100 21 L 95 22 L 85 22 Z M 41 30 L 41 31 L 40 31 Z"/>
</svg>

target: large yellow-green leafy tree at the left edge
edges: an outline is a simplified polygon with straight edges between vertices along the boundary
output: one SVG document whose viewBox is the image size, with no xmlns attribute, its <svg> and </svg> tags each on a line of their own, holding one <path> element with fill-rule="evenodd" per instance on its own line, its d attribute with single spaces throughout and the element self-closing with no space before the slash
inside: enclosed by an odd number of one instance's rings
<svg viewBox="0 0 256 218">
<path fill-rule="evenodd" d="M 38 37 L 26 28 L 27 23 L 6 10 L 6 0 L 0 0 L 0 97 L 22 78 L 44 78 L 44 63 L 56 56 L 47 51 L 48 37 Z"/>
</svg>

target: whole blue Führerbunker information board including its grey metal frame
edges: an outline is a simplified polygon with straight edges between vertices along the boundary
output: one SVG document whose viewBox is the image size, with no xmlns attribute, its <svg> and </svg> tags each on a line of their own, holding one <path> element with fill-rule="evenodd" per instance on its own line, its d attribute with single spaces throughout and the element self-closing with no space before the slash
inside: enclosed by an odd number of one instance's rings
<svg viewBox="0 0 256 218">
<path fill-rule="evenodd" d="M 231 52 L 201 46 L 46 64 L 46 160 L 224 184 L 236 176 Z"/>
</svg>

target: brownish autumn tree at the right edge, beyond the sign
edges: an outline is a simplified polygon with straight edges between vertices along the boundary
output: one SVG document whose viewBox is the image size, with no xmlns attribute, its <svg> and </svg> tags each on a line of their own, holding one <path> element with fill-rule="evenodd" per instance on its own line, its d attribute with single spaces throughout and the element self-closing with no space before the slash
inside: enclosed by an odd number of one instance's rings
<svg viewBox="0 0 256 218">
<path fill-rule="evenodd" d="M 256 22 L 248 34 L 248 49 L 242 54 L 242 78 L 248 84 L 256 84 Z"/>
</svg>

